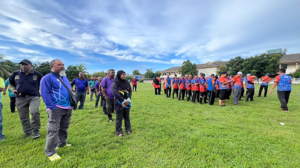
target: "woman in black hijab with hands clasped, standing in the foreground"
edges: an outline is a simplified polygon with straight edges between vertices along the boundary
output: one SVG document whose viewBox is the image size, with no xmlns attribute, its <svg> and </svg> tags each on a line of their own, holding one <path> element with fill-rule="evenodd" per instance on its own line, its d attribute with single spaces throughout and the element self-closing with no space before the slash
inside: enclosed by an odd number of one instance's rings
<svg viewBox="0 0 300 168">
<path fill-rule="evenodd" d="M 126 74 L 120 70 L 117 72 L 116 81 L 112 84 L 112 91 L 115 96 L 114 106 L 116 111 L 116 134 L 123 137 L 122 117 L 124 116 L 125 131 L 127 135 L 131 134 L 131 125 L 129 111 L 131 107 L 131 86 L 125 80 Z"/>
</svg>

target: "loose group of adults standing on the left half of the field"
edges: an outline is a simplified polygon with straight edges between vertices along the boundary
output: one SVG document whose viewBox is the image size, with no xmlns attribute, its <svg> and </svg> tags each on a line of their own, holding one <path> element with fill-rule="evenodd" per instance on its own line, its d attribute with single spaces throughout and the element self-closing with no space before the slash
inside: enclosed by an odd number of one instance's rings
<svg viewBox="0 0 300 168">
<path fill-rule="evenodd" d="M 116 111 L 116 135 L 123 136 L 123 117 L 126 134 L 131 134 L 129 111 L 132 89 L 130 83 L 125 80 L 126 74 L 124 71 L 118 71 L 115 78 L 115 71 L 110 69 L 107 71 L 107 77 L 103 80 L 101 77 L 98 80 L 92 77 L 90 82 L 87 82 L 84 73 L 80 72 L 79 77 L 75 78 L 72 83 L 69 83 L 64 63 L 61 60 L 52 60 L 50 62 L 51 72 L 45 76 L 34 71 L 32 62 L 28 59 L 23 59 L 19 64 L 21 70 L 14 71 L 9 79 L 5 81 L 5 84 L 4 80 L 0 79 L 0 92 L 3 91 L 3 95 L 5 95 L 7 87 L 9 88 L 10 111 L 14 113 L 15 107 L 17 108 L 22 129 L 25 133 L 24 138 L 29 138 L 30 136 L 32 138 L 40 137 L 41 119 L 39 106 L 40 97 L 43 98 L 48 114 L 45 154 L 50 161 L 61 158 L 57 154 L 59 148 L 71 146 L 71 144 L 67 144 L 66 140 L 72 109 L 77 109 L 79 101 L 78 109 L 83 109 L 86 94 L 91 94 L 90 101 L 92 101 L 92 95 L 96 95 L 96 108 L 98 106 L 97 100 L 99 101 L 99 98 L 103 95 L 104 99 L 101 99 L 101 102 L 105 102 L 103 103 L 105 104 L 104 113 L 108 115 L 110 123 L 113 122 L 112 111 L 114 107 Z M 76 99 L 76 106 L 73 107 L 71 106 L 72 99 L 70 98 L 72 97 L 72 92 L 74 92 Z M 1 94 L 0 106 L 0 141 L 2 141 L 5 138 L 3 134 Z M 31 121 L 29 113 L 32 116 Z"/>
</svg>

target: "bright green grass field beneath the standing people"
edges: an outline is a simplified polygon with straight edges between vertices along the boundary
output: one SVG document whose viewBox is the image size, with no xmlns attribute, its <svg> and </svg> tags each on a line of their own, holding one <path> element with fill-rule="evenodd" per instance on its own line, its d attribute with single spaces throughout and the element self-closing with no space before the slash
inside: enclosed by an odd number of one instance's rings
<svg viewBox="0 0 300 168">
<path fill-rule="evenodd" d="M 271 86 L 269 86 L 270 88 Z M 256 85 L 259 88 L 259 85 Z M 24 139 L 18 113 L 2 95 L 5 140 L 0 167 L 300 167 L 300 85 L 292 85 L 289 112 L 280 111 L 276 91 L 241 106 L 219 107 L 154 95 L 151 83 L 133 92 L 132 135 L 117 137 L 95 98 L 73 111 L 68 148 L 61 160 L 44 154 L 47 114 L 41 100 L 41 137 Z M 116 118 L 116 115 L 113 115 Z M 279 123 L 285 123 L 284 126 Z M 124 123 L 123 123 L 123 131 Z"/>
</svg>

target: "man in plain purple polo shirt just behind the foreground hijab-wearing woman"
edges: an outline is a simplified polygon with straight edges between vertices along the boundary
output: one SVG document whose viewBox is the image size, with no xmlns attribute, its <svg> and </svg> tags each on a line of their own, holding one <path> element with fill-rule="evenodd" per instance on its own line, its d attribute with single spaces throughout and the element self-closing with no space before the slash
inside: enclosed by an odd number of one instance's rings
<svg viewBox="0 0 300 168">
<path fill-rule="evenodd" d="M 112 91 L 112 84 L 115 82 L 115 70 L 110 69 L 108 70 L 109 76 L 107 78 L 104 78 L 101 81 L 101 89 L 102 94 L 104 96 L 104 99 L 106 100 L 106 113 L 108 117 L 108 122 L 113 122 L 113 116 L 112 116 L 112 109 L 113 109 L 113 91 Z"/>
</svg>

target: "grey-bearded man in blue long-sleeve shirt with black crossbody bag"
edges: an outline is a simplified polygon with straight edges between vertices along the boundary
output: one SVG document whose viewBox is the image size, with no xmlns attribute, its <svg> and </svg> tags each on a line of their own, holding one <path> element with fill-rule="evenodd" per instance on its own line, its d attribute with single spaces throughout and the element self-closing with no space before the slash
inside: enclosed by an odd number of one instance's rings
<svg viewBox="0 0 300 168">
<path fill-rule="evenodd" d="M 50 62 L 50 65 L 51 73 L 45 75 L 41 80 L 41 96 L 48 112 L 45 154 L 50 161 L 55 161 L 61 158 L 57 155 L 56 149 L 71 146 L 66 143 L 66 140 L 72 107 L 69 92 L 59 80 L 61 79 L 71 89 L 64 71 L 64 63 L 55 59 Z"/>
</svg>

